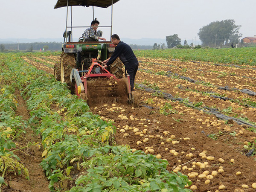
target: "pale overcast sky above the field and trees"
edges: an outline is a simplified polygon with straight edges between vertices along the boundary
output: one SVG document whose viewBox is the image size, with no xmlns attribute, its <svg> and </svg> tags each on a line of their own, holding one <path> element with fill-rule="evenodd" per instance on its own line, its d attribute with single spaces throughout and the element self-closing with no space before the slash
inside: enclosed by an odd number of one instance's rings
<svg viewBox="0 0 256 192">
<path fill-rule="evenodd" d="M 57 0 L 0 0 L 0 38 L 62 38 L 66 8 Z M 198 31 L 212 21 L 234 19 L 242 37 L 256 35 L 255 0 L 120 0 L 113 5 L 113 33 L 120 38 L 198 40 Z M 100 25 L 109 26 L 111 8 L 94 8 Z M 73 7 L 73 26 L 89 26 L 92 8 Z M 69 11 L 70 15 L 70 11 Z M 85 29 L 73 31 L 79 38 Z M 101 28 L 109 39 L 110 30 Z M 181 42 L 183 43 L 183 42 Z"/>
</svg>

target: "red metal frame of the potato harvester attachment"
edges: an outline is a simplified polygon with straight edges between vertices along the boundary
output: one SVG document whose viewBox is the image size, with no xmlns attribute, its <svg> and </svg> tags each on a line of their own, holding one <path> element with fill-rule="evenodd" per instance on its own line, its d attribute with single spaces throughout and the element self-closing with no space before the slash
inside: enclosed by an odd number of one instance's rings
<svg viewBox="0 0 256 192">
<path fill-rule="evenodd" d="M 88 72 L 86 72 L 85 75 L 81 77 L 81 81 L 84 84 L 84 93 L 86 95 L 87 95 L 87 79 L 88 78 L 95 78 L 95 77 L 107 77 L 109 79 L 112 77 L 116 81 L 124 81 L 125 80 L 125 83 L 127 84 L 127 92 L 128 92 L 128 94 L 131 93 L 130 76 L 127 76 L 126 78 L 123 78 L 123 79 L 118 79 L 118 78 L 116 78 L 116 76 L 114 76 L 113 74 L 109 73 L 108 70 L 102 69 L 102 65 L 100 65 L 96 60 L 97 60 L 96 58 L 92 59 L 92 64 L 89 67 Z M 101 73 L 98 73 L 98 74 L 92 74 L 91 73 L 92 70 L 93 70 L 93 67 L 95 67 L 95 66 L 100 67 Z M 76 90 L 76 95 L 80 97 L 80 94 L 78 93 L 78 90 L 77 90 L 77 85 L 75 85 L 75 90 Z"/>
</svg>

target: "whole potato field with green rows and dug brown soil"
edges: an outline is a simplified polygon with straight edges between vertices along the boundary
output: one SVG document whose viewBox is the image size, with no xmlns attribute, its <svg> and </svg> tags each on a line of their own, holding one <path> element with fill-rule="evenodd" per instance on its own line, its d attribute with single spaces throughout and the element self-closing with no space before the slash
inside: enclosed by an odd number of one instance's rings
<svg viewBox="0 0 256 192">
<path fill-rule="evenodd" d="M 0 189 L 254 192 L 255 50 L 220 50 L 137 51 L 139 107 L 90 108 L 60 52 L 0 54 Z"/>
</svg>

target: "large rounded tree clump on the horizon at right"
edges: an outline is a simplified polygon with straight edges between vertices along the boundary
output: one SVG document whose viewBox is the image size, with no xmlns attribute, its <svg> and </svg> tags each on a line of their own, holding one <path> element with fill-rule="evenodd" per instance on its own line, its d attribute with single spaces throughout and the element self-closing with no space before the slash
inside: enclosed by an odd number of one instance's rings
<svg viewBox="0 0 256 192">
<path fill-rule="evenodd" d="M 238 35 L 241 25 L 235 25 L 235 20 L 227 19 L 214 21 L 207 26 L 199 29 L 198 36 L 204 46 L 216 45 L 222 46 L 227 44 L 232 35 Z"/>
</svg>

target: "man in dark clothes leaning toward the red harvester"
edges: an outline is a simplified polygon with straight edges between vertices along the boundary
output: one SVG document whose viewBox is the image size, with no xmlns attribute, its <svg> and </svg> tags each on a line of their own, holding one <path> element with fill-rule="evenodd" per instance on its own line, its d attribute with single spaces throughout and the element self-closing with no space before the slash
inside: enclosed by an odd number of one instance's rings
<svg viewBox="0 0 256 192">
<path fill-rule="evenodd" d="M 127 73 L 130 76 L 131 91 L 133 91 L 135 75 L 139 67 L 139 62 L 131 47 L 128 44 L 122 42 L 118 35 L 112 35 L 111 41 L 114 45 L 116 45 L 116 49 L 110 58 L 103 61 L 103 63 L 106 65 L 102 68 L 105 69 L 107 66 L 111 65 L 116 60 L 116 58 L 119 57 L 122 63 L 125 65 L 125 76 L 127 76 Z"/>
</svg>

